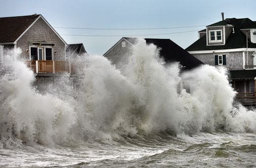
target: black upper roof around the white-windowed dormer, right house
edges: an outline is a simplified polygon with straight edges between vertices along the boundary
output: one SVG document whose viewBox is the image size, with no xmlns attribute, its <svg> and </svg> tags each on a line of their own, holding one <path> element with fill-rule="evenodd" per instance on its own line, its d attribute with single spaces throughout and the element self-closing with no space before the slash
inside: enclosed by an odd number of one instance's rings
<svg viewBox="0 0 256 168">
<path fill-rule="evenodd" d="M 226 19 L 230 24 L 234 25 L 235 33 L 231 33 L 226 40 L 225 45 L 206 45 L 206 35 L 202 36 L 200 39 L 195 41 L 189 47 L 186 48 L 187 51 L 202 51 L 202 50 L 222 50 L 222 49 L 235 49 L 235 48 L 246 48 L 246 36 L 241 32 L 240 29 L 246 29 L 248 27 L 253 27 L 255 22 L 252 22 L 248 18 L 245 19 Z M 256 28 L 256 26 L 255 26 Z M 251 43 L 248 41 L 248 48 L 256 48 L 256 43 Z"/>
</svg>

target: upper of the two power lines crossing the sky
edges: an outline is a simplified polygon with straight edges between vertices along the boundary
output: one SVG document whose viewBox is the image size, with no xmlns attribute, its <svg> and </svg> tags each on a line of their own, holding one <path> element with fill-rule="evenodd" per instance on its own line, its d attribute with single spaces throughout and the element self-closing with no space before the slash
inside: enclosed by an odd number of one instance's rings
<svg viewBox="0 0 256 168">
<path fill-rule="evenodd" d="M 108 28 L 74 28 L 74 27 L 54 27 L 61 29 L 84 29 L 84 30 L 157 30 L 157 29 L 177 29 L 177 28 L 192 28 L 192 27 L 202 27 L 206 25 L 199 26 L 182 26 L 182 27 L 163 27 L 163 28 L 116 28 L 116 29 L 108 29 Z"/>
</svg>

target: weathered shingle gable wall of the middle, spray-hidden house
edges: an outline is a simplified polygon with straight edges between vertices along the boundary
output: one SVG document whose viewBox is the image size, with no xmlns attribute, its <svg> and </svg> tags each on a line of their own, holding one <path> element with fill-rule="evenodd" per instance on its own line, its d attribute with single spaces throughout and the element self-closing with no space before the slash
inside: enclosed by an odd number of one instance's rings
<svg viewBox="0 0 256 168">
<path fill-rule="evenodd" d="M 125 47 L 122 47 L 122 42 L 125 42 Z M 120 41 L 110 52 L 104 55 L 117 69 L 122 68 L 129 62 L 132 55 L 132 45 L 125 40 Z"/>
</svg>

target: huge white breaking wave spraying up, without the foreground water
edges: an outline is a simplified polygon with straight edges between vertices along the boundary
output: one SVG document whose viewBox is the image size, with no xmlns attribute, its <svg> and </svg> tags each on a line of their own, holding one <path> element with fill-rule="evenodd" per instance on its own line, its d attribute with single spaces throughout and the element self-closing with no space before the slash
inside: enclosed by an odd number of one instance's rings
<svg viewBox="0 0 256 168">
<path fill-rule="evenodd" d="M 0 70 L 0 147 L 69 145 L 152 133 L 256 132 L 256 113 L 233 107 L 224 68 L 202 65 L 181 73 L 159 49 L 139 40 L 122 71 L 105 57 L 75 57 L 79 71 L 38 82 L 20 50 Z M 189 83 L 190 93 L 180 89 Z M 184 84 L 185 85 L 185 84 Z"/>
</svg>

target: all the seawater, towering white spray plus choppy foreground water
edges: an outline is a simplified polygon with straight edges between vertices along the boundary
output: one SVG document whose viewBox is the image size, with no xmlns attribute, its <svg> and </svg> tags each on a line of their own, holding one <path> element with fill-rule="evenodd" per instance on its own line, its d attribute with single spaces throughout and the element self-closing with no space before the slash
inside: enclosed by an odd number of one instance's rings
<svg viewBox="0 0 256 168">
<path fill-rule="evenodd" d="M 183 71 L 143 39 L 132 51 L 121 70 L 103 56 L 70 58 L 76 74 L 54 83 L 38 82 L 20 49 L 7 52 L 0 167 L 256 166 L 256 111 L 234 105 L 225 68 Z"/>
</svg>

